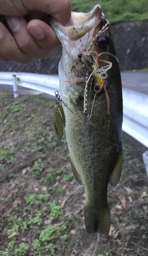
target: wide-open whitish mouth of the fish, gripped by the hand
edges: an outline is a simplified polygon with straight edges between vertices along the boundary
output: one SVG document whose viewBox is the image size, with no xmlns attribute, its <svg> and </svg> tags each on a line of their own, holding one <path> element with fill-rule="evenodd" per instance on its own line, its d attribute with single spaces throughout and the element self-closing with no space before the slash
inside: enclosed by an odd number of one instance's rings
<svg viewBox="0 0 148 256">
<path fill-rule="evenodd" d="M 94 35 L 104 26 L 101 25 L 101 21 L 104 19 L 104 23 L 108 23 L 102 13 L 100 5 L 95 5 L 88 13 L 72 12 L 71 19 L 73 21 L 72 26 L 68 24 L 62 26 L 53 17 L 50 18 L 51 27 L 61 41 L 62 46 L 66 49 L 70 44 L 70 47 L 85 50 L 84 46 L 86 41 L 87 43 L 92 41 Z"/>
</svg>

